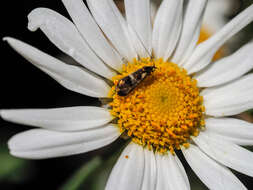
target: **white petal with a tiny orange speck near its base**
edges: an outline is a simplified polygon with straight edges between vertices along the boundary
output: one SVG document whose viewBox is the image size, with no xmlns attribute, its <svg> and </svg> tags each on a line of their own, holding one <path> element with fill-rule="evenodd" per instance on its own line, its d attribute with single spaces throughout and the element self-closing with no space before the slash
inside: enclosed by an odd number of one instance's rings
<svg viewBox="0 0 253 190">
<path fill-rule="evenodd" d="M 140 145 L 130 143 L 114 166 L 105 190 L 139 190 L 141 189 L 143 172 L 143 148 Z"/>
</svg>

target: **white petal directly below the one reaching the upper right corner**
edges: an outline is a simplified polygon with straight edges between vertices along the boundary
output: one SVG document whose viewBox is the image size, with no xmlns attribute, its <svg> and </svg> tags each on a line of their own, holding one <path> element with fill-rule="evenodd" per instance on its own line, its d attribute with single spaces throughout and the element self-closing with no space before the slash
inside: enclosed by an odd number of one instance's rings
<svg viewBox="0 0 253 190">
<path fill-rule="evenodd" d="M 210 64 L 194 78 L 200 87 L 212 87 L 239 78 L 253 68 L 253 42 L 226 58 Z"/>
</svg>

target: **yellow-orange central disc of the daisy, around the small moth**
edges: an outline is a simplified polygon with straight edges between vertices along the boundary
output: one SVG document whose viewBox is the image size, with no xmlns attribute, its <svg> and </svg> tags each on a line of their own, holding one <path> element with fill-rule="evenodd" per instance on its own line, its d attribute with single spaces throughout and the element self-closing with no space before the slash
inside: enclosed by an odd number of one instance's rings
<svg viewBox="0 0 253 190">
<path fill-rule="evenodd" d="M 128 95 L 116 93 L 120 79 L 154 65 L 156 69 Z M 197 81 L 176 64 L 162 59 L 134 59 L 112 80 L 110 112 L 120 131 L 133 142 L 153 151 L 174 154 L 181 146 L 189 147 L 190 137 L 197 136 L 204 127 L 205 108 Z"/>
</svg>

